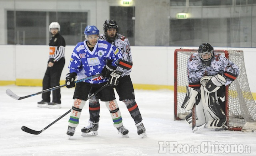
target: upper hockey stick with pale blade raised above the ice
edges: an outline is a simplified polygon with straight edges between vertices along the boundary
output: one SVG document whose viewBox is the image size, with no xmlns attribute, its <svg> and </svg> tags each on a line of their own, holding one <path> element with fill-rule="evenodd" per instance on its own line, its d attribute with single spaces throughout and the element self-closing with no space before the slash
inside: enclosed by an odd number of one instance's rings
<svg viewBox="0 0 256 156">
<path fill-rule="evenodd" d="M 82 82 L 82 81 L 85 81 L 85 80 L 89 80 L 89 79 L 92 79 L 92 78 L 95 78 L 95 77 L 98 77 L 98 76 L 101 76 L 101 74 L 97 74 L 97 75 L 94 75 L 94 76 L 86 77 L 86 78 L 81 79 L 81 80 L 76 80 L 75 83 Z M 20 100 L 20 99 L 28 98 L 28 97 L 35 96 L 35 95 L 38 95 L 38 94 L 42 94 L 42 93 L 46 93 L 46 92 L 49 92 L 49 91 L 53 91 L 53 90 L 56 90 L 56 89 L 64 87 L 64 86 L 67 86 L 67 84 L 60 85 L 60 86 L 55 86 L 55 87 L 52 87 L 52 88 L 49 88 L 49 89 L 46 89 L 46 90 L 43 90 L 41 92 L 37 92 L 37 93 L 31 94 L 31 95 L 27 95 L 27 96 L 17 96 L 10 89 L 6 90 L 6 94 L 9 95 L 11 98 L 14 98 L 16 100 Z"/>
</svg>

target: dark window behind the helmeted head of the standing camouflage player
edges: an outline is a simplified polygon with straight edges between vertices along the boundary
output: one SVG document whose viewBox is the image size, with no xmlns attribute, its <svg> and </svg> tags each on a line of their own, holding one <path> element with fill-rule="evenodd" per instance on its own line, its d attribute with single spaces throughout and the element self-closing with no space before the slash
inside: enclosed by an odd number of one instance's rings
<svg viewBox="0 0 256 156">
<path fill-rule="evenodd" d="M 133 6 L 110 6 L 110 19 L 117 22 L 119 33 L 129 39 L 130 45 L 134 45 L 134 10 Z"/>
</svg>

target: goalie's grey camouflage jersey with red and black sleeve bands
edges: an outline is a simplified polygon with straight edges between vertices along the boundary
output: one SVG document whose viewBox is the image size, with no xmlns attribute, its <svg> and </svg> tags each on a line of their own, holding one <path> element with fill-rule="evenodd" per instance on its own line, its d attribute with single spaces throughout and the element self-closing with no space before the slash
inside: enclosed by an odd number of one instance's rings
<svg viewBox="0 0 256 156">
<path fill-rule="evenodd" d="M 214 53 L 209 66 L 204 64 L 198 53 L 194 53 L 188 59 L 188 86 L 200 87 L 200 80 L 203 76 L 214 76 L 220 74 L 226 78 L 226 85 L 231 84 L 239 75 L 239 68 L 232 61 L 222 54 Z"/>
</svg>

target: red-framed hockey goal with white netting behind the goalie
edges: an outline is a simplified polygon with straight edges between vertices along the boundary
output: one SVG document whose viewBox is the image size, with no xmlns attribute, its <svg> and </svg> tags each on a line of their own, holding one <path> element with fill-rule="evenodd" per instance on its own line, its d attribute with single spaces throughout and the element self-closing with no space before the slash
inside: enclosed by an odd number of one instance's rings
<svg viewBox="0 0 256 156">
<path fill-rule="evenodd" d="M 225 114 L 229 130 L 241 130 L 246 122 L 255 122 L 256 103 L 247 80 L 242 50 L 214 50 L 235 63 L 240 74 L 225 91 Z M 181 108 L 186 97 L 187 60 L 197 49 L 176 49 L 174 60 L 174 120 L 185 119 L 190 112 Z"/>
</svg>

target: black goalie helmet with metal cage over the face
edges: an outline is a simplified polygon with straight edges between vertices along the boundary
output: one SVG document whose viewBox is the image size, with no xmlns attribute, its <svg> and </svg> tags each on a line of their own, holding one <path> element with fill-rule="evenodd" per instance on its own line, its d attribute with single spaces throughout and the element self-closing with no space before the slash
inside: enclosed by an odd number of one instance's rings
<svg viewBox="0 0 256 156">
<path fill-rule="evenodd" d="M 198 48 L 198 55 L 203 61 L 209 61 L 214 56 L 214 50 L 209 43 L 202 43 Z"/>
</svg>

